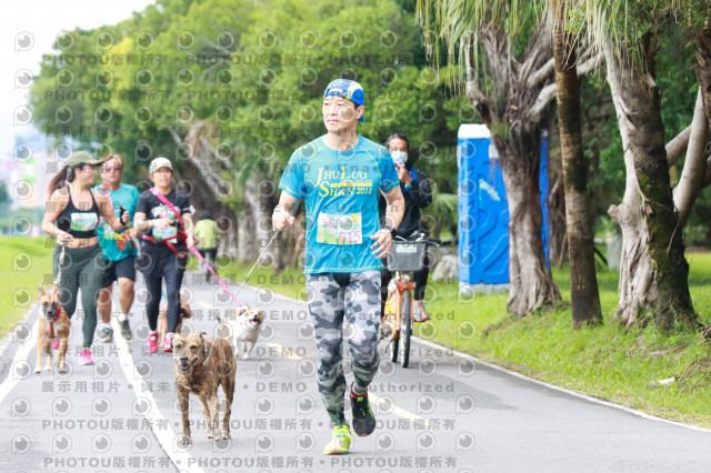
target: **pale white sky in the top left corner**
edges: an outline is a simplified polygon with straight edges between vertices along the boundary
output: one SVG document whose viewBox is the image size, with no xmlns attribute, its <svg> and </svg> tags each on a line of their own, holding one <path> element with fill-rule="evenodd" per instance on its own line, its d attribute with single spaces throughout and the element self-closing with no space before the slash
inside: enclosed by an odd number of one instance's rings
<svg viewBox="0 0 711 473">
<path fill-rule="evenodd" d="M 0 159 L 13 154 L 14 135 L 26 134 L 28 89 L 18 78 L 39 73 L 42 54 L 62 31 L 93 29 L 131 17 L 154 0 L 6 0 L 0 4 Z"/>
</svg>

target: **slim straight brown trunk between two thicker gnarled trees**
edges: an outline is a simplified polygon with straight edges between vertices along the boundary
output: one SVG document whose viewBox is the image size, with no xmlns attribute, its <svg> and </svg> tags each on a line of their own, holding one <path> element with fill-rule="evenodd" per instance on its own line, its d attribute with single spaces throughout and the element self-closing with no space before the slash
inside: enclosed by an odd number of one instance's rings
<svg viewBox="0 0 711 473">
<path fill-rule="evenodd" d="M 602 323 L 600 293 L 595 275 L 590 202 L 588 199 L 588 163 L 580 125 L 580 84 L 575 69 L 577 54 L 572 38 L 565 32 L 564 0 L 555 6 L 553 54 L 558 92 L 558 123 L 565 182 L 565 222 L 570 260 L 570 300 L 572 326 Z"/>
</svg>

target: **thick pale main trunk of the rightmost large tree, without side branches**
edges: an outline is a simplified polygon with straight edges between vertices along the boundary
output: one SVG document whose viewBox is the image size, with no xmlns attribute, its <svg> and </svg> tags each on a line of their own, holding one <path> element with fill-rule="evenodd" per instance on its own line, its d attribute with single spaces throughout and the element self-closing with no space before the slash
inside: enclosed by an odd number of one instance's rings
<svg viewBox="0 0 711 473">
<path fill-rule="evenodd" d="M 664 149 L 664 127 L 659 89 L 653 80 L 653 48 L 645 34 L 640 47 L 640 67 L 605 46 L 608 82 L 622 134 L 628 170 L 623 202 L 610 215 L 623 234 L 620 301 L 615 318 L 635 322 L 640 311 L 651 311 L 658 326 L 697 321 L 689 294 L 689 265 L 684 259 L 683 227 L 674 208 Z"/>
</svg>

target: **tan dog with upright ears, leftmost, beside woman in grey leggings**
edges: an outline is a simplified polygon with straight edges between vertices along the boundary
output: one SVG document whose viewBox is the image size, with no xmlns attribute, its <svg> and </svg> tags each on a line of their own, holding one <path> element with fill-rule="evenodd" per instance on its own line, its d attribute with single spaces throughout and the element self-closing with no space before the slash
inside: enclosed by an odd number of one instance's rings
<svg viewBox="0 0 711 473">
<path fill-rule="evenodd" d="M 67 343 L 69 340 L 69 316 L 59 303 L 59 285 L 54 284 L 52 293 L 47 294 L 40 284 L 38 290 L 40 300 L 39 313 L 39 333 L 37 336 L 37 366 L 36 373 L 42 371 L 42 351 L 47 353 L 49 359 L 44 365 L 44 371 L 50 371 L 52 366 L 52 349 L 51 344 L 54 339 L 59 338 L 59 353 L 54 365 L 60 373 L 67 371 L 64 368 L 64 356 L 67 355 Z"/>
</svg>

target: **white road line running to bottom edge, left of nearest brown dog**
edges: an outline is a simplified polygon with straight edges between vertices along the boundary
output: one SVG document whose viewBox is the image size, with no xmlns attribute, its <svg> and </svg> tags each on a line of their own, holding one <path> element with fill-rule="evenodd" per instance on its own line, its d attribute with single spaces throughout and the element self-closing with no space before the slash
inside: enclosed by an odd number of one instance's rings
<svg viewBox="0 0 711 473">
<path fill-rule="evenodd" d="M 119 325 L 117 318 L 111 318 L 111 325 L 113 326 L 114 333 L 121 332 L 121 326 Z M 163 452 L 166 452 L 176 467 L 181 472 L 204 473 L 204 470 L 198 466 L 197 462 L 192 462 L 193 465 L 191 465 L 189 461 L 192 459 L 192 455 L 190 455 L 190 453 L 181 452 L 179 449 L 176 449 L 176 432 L 161 414 L 158 403 L 156 402 L 156 397 L 153 397 L 153 393 L 151 391 L 142 391 L 142 383 L 133 379 L 133 373 L 136 373 L 136 363 L 133 363 L 133 356 L 129 353 L 129 342 L 122 336 L 114 336 L 113 340 L 118 349 L 119 363 L 121 364 L 121 369 L 123 369 L 123 375 L 131 383 L 133 392 L 136 393 L 136 399 L 142 397 L 150 404 L 150 409 L 148 409 L 147 413 L 142 415 L 149 421 L 153 435 L 158 439 Z M 154 429 L 154 426 L 161 421 L 164 421 L 167 429 Z"/>
</svg>

